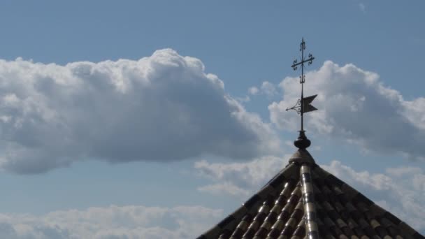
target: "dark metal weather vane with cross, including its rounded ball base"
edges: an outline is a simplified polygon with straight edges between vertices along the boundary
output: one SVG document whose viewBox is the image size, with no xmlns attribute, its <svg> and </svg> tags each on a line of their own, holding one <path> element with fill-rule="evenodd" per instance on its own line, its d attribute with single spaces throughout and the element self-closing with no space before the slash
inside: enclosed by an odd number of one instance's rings
<svg viewBox="0 0 425 239">
<path fill-rule="evenodd" d="M 308 54 L 308 58 L 304 58 L 304 50 L 305 50 L 305 42 L 304 38 L 301 41 L 300 44 L 300 51 L 301 51 L 301 61 L 298 62 L 298 60 L 294 60 L 294 64 L 292 64 L 292 68 L 294 71 L 298 69 L 298 66 L 301 66 L 301 76 L 300 76 L 300 84 L 301 84 L 301 99 L 298 99 L 296 101 L 295 106 L 292 106 L 291 108 L 287 108 L 288 110 L 295 110 L 298 115 L 301 115 L 301 130 L 300 135 L 298 136 L 298 139 L 295 140 L 294 145 L 300 149 L 305 149 L 306 147 L 310 146 L 310 140 L 305 136 L 304 131 L 304 113 L 308 113 L 313 110 L 317 110 L 314 106 L 311 105 L 312 101 L 316 98 L 317 94 L 314 96 L 308 96 L 304 98 L 304 82 L 305 82 L 305 75 L 304 75 L 304 64 L 308 63 L 308 65 L 311 65 L 315 57 L 313 57 L 311 54 Z"/>
</svg>

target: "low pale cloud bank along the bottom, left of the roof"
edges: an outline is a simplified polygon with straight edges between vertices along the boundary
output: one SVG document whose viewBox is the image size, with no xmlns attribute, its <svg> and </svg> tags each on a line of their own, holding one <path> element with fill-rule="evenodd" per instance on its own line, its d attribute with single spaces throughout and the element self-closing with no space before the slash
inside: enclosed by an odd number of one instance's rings
<svg viewBox="0 0 425 239">
<path fill-rule="evenodd" d="M 0 214 L 0 237 L 195 238 L 222 217 L 222 210 L 201 206 L 159 208 L 136 205 L 56 211 L 39 217 Z"/>
</svg>

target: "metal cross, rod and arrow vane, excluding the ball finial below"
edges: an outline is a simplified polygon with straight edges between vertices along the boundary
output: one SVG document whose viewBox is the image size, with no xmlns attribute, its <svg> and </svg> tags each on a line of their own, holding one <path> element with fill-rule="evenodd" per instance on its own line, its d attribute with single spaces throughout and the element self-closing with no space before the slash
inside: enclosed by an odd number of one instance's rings
<svg viewBox="0 0 425 239">
<path fill-rule="evenodd" d="M 292 64 L 291 66 L 294 69 L 294 71 L 296 71 L 298 66 L 301 65 L 301 76 L 300 76 L 301 99 L 298 99 L 298 101 L 296 101 L 295 106 L 292 106 L 291 108 L 287 108 L 287 111 L 295 110 L 298 114 L 301 115 L 301 131 L 304 131 L 304 118 L 303 118 L 304 113 L 317 110 L 317 108 L 310 105 L 310 103 L 313 101 L 313 99 L 315 99 L 317 94 L 314 96 L 308 96 L 304 98 L 304 82 L 305 82 L 304 63 L 308 62 L 308 65 L 311 65 L 313 60 L 315 59 L 315 57 L 313 57 L 311 54 L 308 54 L 308 58 L 304 59 L 304 50 L 305 50 L 305 41 L 303 38 L 303 41 L 301 41 L 301 44 L 300 44 L 301 61 L 298 62 L 298 60 L 295 59 L 294 64 Z"/>
</svg>

